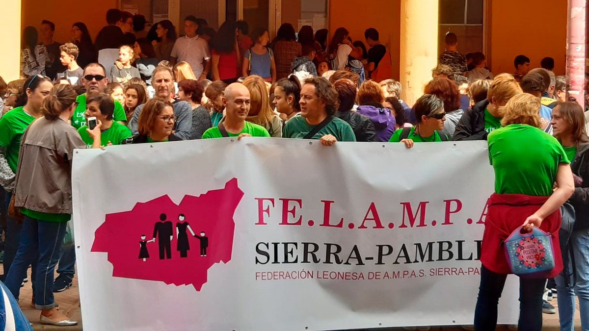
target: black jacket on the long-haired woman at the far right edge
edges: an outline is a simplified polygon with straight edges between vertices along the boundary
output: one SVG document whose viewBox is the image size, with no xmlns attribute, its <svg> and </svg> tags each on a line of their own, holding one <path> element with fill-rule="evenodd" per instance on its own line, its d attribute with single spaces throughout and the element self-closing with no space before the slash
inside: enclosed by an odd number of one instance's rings
<svg viewBox="0 0 589 331">
<path fill-rule="evenodd" d="M 577 155 L 571 163 L 573 173 L 583 179 L 581 187 L 575 187 L 575 192 L 569 202 L 575 207 L 574 230 L 589 228 L 589 143 L 581 143 L 577 147 Z"/>
</svg>

